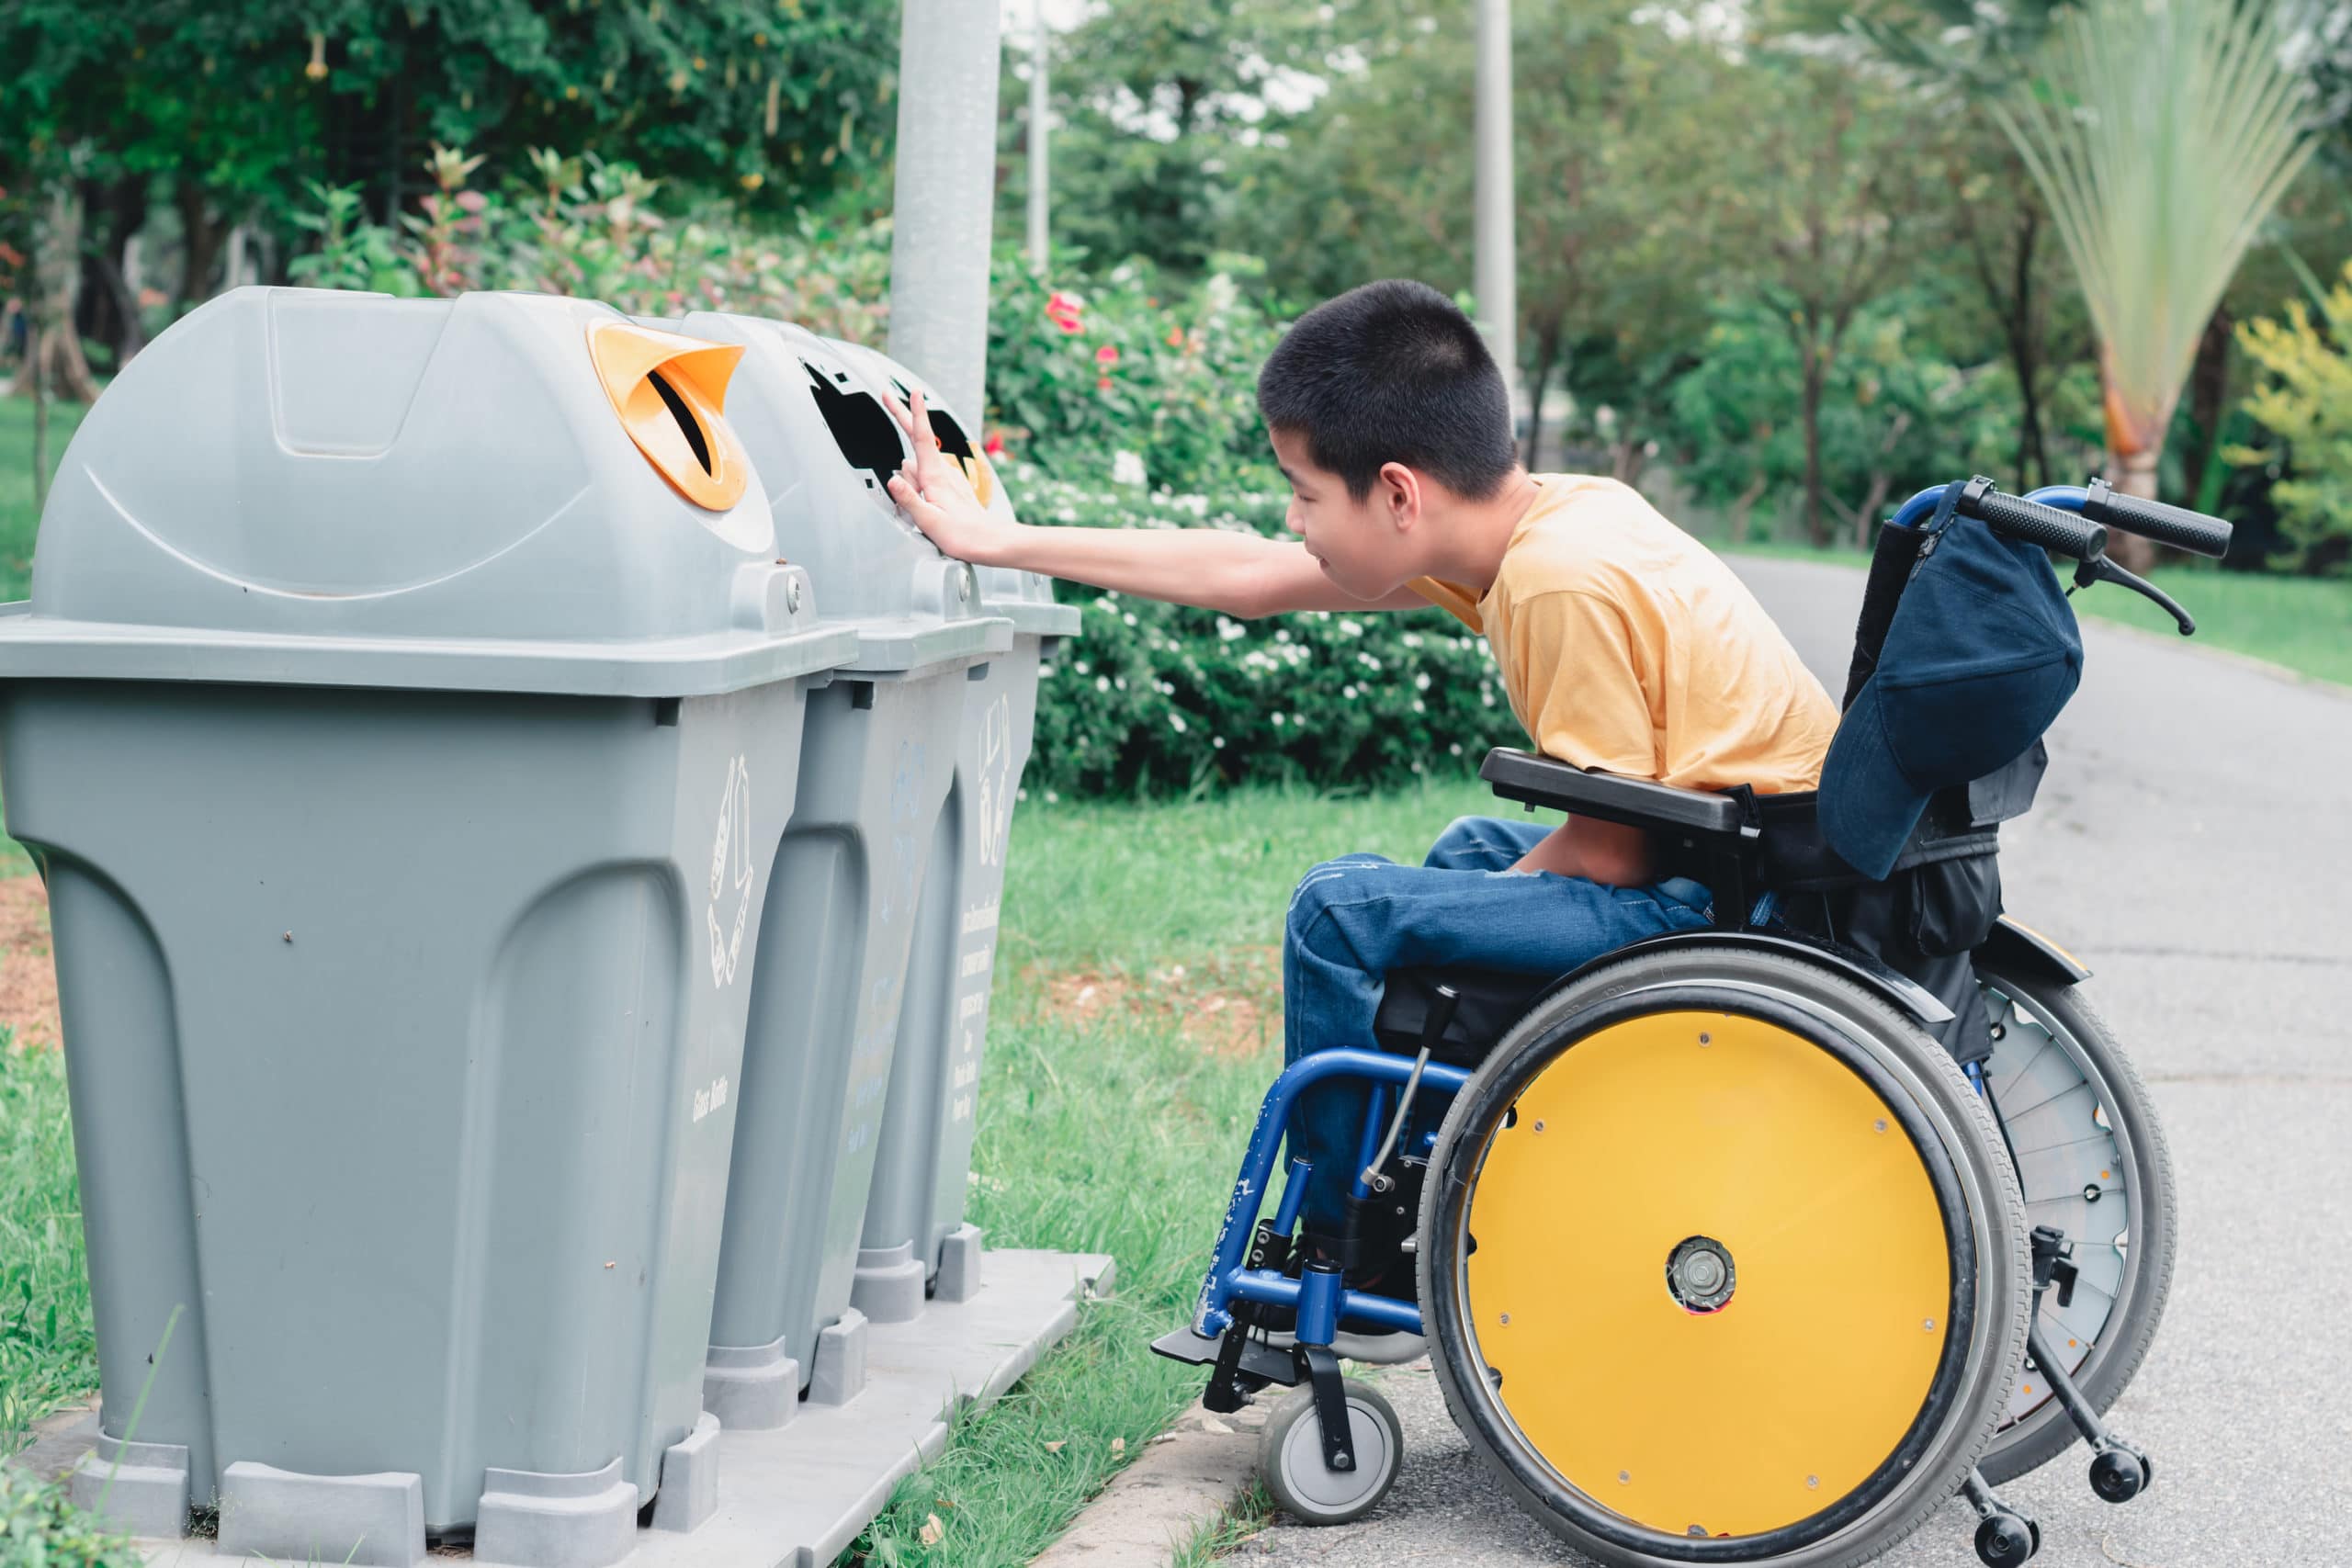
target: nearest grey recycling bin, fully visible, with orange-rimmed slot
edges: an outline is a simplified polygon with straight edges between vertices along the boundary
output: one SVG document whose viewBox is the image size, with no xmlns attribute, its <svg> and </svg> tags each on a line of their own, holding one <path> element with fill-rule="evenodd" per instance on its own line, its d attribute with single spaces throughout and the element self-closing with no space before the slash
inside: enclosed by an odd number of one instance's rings
<svg viewBox="0 0 2352 1568">
<path fill-rule="evenodd" d="M 120 1458 L 134 1528 L 607 1563 L 656 1488 L 708 1507 L 753 952 L 807 686 L 858 651 L 779 562 L 734 357 L 240 289 L 66 451 L 0 778 L 99 1328 L 75 1493 Z"/>
</svg>

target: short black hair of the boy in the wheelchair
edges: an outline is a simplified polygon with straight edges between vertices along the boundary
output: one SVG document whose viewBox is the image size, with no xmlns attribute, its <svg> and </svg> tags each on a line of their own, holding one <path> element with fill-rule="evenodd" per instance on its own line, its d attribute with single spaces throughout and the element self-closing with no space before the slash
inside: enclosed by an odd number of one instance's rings
<svg viewBox="0 0 2352 1568">
<path fill-rule="evenodd" d="M 1409 277 L 1348 289 L 1291 322 L 1258 371 L 1258 411 L 1268 430 L 1303 435 L 1357 501 L 1381 463 L 1484 501 L 1519 461 L 1510 390 L 1477 327 Z"/>
</svg>

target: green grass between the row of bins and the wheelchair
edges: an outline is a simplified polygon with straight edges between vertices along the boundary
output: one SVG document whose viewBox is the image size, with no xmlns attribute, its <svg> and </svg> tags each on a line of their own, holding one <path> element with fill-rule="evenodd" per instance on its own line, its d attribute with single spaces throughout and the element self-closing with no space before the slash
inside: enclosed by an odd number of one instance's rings
<svg viewBox="0 0 2352 1568">
<path fill-rule="evenodd" d="M 1051 1356 L 898 1486 L 844 1561 L 1025 1563 L 1200 1394 L 1200 1371 L 1152 1356 L 1150 1340 L 1188 1316 L 1279 1065 L 1270 950 L 1291 886 L 1315 860 L 1357 849 L 1418 860 L 1451 818 L 1494 809 L 1470 778 L 1357 799 L 1242 790 L 1197 804 L 1023 809 L 971 1218 L 993 1246 L 1110 1253 L 1117 1293 L 1089 1305 Z M 1178 964 L 1256 994 L 1270 1039 L 1214 1053 L 1155 1009 L 1073 1023 L 1044 1006 L 1056 973 L 1197 994 L 1169 978 Z M 929 1519 L 941 1535 L 924 1547 Z M 1207 1561 L 1211 1547 L 1204 1537 L 1185 1561 Z"/>
</svg>

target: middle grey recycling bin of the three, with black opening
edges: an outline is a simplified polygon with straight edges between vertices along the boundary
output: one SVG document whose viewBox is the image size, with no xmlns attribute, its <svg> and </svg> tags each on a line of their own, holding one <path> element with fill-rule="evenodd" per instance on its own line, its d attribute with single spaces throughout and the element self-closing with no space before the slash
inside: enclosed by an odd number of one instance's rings
<svg viewBox="0 0 2352 1568">
<path fill-rule="evenodd" d="M 706 1406 L 781 1427 L 802 1389 L 837 1403 L 863 1382 L 849 1291 L 917 900 L 967 691 L 1014 628 L 898 515 L 882 482 L 906 440 L 835 348 L 741 315 L 680 329 L 743 346 L 729 423 L 769 480 L 776 545 L 858 637 L 809 701 L 776 877 L 811 898 L 760 931 L 710 1319 Z"/>
</svg>

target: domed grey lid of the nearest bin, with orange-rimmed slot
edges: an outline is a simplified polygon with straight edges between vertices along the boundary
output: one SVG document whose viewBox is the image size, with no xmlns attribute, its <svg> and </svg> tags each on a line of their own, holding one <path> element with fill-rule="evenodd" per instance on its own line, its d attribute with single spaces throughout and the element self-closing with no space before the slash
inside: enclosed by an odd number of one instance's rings
<svg viewBox="0 0 2352 1568">
<path fill-rule="evenodd" d="M 703 696 L 844 665 L 736 348 L 576 299 L 233 289 L 66 449 L 0 677 Z"/>
</svg>

